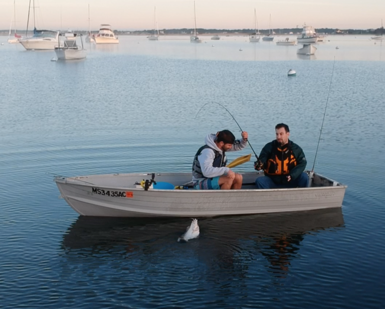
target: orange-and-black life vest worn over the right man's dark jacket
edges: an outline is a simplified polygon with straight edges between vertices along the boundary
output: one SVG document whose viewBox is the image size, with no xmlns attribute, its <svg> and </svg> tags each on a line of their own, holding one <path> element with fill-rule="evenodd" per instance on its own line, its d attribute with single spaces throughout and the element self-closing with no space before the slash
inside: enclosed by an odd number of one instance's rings
<svg viewBox="0 0 385 309">
<path fill-rule="evenodd" d="M 289 143 L 284 145 L 283 148 L 274 144 L 264 172 L 267 175 L 288 175 L 296 165 L 297 160 Z"/>
</svg>

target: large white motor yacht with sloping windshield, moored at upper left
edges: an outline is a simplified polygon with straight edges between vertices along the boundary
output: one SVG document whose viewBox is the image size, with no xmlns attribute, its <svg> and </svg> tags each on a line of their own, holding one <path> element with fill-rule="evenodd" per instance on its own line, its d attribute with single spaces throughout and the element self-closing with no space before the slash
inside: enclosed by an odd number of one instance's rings
<svg viewBox="0 0 385 309">
<path fill-rule="evenodd" d="M 26 50 L 54 50 L 58 45 L 59 31 L 37 30 L 31 38 L 19 40 Z"/>
</svg>

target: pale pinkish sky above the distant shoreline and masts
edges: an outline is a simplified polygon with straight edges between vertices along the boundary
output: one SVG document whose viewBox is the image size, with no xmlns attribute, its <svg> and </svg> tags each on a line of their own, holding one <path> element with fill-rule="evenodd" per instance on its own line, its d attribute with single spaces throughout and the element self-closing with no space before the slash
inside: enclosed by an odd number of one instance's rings
<svg viewBox="0 0 385 309">
<path fill-rule="evenodd" d="M 27 28 L 30 0 L 16 1 L 16 28 Z M 33 6 L 31 0 L 31 7 Z M 110 24 L 114 30 L 154 28 L 154 8 L 159 29 L 194 28 L 193 0 L 35 0 L 38 29 L 98 30 Z M 375 29 L 385 22 L 385 0 L 196 0 L 197 28 L 253 29 L 254 9 L 258 28 Z M 33 9 L 30 25 L 33 28 Z M 9 29 L 14 0 L 0 0 L 0 30 Z M 14 25 L 12 25 L 14 28 Z"/>
</svg>

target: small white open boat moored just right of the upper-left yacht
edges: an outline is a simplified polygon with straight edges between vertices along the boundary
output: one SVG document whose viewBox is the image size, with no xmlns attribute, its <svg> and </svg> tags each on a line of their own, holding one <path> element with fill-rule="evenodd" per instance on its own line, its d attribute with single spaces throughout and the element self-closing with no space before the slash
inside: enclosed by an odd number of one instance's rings
<svg viewBox="0 0 385 309">
<path fill-rule="evenodd" d="M 77 44 L 77 38 L 80 38 L 81 46 Z M 81 34 L 72 33 L 71 31 L 64 35 L 60 34 L 58 43 L 58 47 L 55 48 L 58 60 L 80 60 L 87 57 L 87 50 L 84 49 L 83 35 Z M 62 45 L 63 47 L 60 47 Z"/>
</svg>

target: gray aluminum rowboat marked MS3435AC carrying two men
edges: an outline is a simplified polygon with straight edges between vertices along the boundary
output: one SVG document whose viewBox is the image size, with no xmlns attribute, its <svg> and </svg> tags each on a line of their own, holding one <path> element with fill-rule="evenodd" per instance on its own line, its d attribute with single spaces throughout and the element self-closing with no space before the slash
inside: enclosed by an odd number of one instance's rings
<svg viewBox="0 0 385 309">
<path fill-rule="evenodd" d="M 210 217 L 341 207 L 347 186 L 308 174 L 308 188 L 267 190 L 256 189 L 261 172 L 242 173 L 240 190 L 194 190 L 191 173 L 57 176 L 54 181 L 66 202 L 84 216 Z"/>
</svg>

